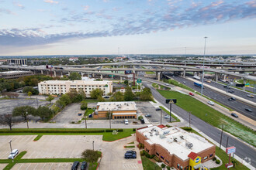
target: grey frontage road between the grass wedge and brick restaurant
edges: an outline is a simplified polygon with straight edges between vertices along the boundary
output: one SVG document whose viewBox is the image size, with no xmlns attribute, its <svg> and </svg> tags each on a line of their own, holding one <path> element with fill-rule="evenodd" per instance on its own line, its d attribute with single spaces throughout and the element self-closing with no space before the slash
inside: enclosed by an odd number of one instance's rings
<svg viewBox="0 0 256 170">
<path fill-rule="evenodd" d="M 161 104 L 163 104 L 165 107 L 169 107 L 168 104 L 165 104 L 165 98 L 161 96 L 160 93 L 157 92 L 157 90 L 154 89 L 150 85 L 150 83 L 144 83 L 145 87 L 150 87 L 150 90 L 154 96 L 154 98 L 159 101 Z M 175 114 L 178 114 L 178 116 L 182 117 L 185 121 L 189 121 L 189 113 L 182 108 L 176 106 L 175 104 L 172 104 L 172 109 Z M 204 134 L 208 135 L 209 138 L 212 138 L 214 141 L 220 142 L 220 135 L 221 130 L 218 128 L 213 127 L 210 124 L 207 124 L 205 121 L 202 121 L 199 119 L 199 117 L 195 117 L 191 114 L 191 124 L 195 128 L 199 129 L 199 131 L 202 131 Z M 240 158 L 251 158 L 251 165 L 254 167 L 256 166 L 255 161 L 255 155 L 256 150 L 255 148 L 250 147 L 249 145 L 244 144 L 244 142 L 239 141 L 237 138 L 234 138 L 233 136 L 230 136 L 226 132 L 223 132 L 223 140 L 222 140 L 222 146 L 226 147 L 227 145 L 227 137 L 229 137 L 228 147 L 235 146 L 237 148 L 236 155 Z"/>
</svg>

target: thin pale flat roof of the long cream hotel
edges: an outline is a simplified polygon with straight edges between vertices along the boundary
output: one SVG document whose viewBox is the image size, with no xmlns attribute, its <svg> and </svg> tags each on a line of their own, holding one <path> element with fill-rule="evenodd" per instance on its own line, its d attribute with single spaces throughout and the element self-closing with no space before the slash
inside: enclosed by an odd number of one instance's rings
<svg viewBox="0 0 256 170">
<path fill-rule="evenodd" d="M 88 84 L 88 85 L 102 85 L 110 83 L 111 81 L 90 81 L 90 80 L 47 80 L 47 81 L 41 81 L 41 84 L 66 84 L 66 83 L 75 83 L 75 84 Z"/>
</svg>

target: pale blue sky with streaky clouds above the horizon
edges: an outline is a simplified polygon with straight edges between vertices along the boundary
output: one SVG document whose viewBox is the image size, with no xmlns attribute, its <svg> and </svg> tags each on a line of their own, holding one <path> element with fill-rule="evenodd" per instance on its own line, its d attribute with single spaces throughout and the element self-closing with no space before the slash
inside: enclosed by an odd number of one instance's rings
<svg viewBox="0 0 256 170">
<path fill-rule="evenodd" d="M 0 0 L 0 56 L 203 55 L 205 45 L 256 54 L 256 0 Z"/>
</svg>

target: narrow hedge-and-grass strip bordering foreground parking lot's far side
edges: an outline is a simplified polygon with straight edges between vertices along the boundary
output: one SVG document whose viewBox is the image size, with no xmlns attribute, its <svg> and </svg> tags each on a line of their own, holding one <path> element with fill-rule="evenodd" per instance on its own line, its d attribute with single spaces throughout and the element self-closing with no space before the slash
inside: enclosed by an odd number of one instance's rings
<svg viewBox="0 0 256 170">
<path fill-rule="evenodd" d="M 118 134 L 112 134 L 112 131 L 118 130 Z M 103 135 L 103 141 L 116 141 L 121 138 L 129 137 L 134 134 L 133 129 L 61 129 L 61 128 L 43 128 L 43 129 L 21 129 L 14 128 L 0 129 L 0 135 Z"/>
</svg>

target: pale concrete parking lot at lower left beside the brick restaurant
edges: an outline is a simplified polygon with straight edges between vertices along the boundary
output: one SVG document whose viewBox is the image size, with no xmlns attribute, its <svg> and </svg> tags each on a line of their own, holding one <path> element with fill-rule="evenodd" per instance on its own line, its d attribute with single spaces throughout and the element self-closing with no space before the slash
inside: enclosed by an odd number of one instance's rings
<svg viewBox="0 0 256 170">
<path fill-rule="evenodd" d="M 131 148 L 124 145 L 135 141 L 133 134 L 130 138 L 119 141 L 102 141 L 102 135 L 43 135 L 39 141 L 33 141 L 36 135 L 0 136 L 0 159 L 6 159 L 10 153 L 9 141 L 12 140 L 12 149 L 27 151 L 22 158 L 81 158 L 85 149 L 102 151 L 102 161 L 99 169 L 143 169 L 140 153 L 137 148 L 136 159 L 125 159 L 124 154 Z M 94 141 L 94 143 L 93 143 Z M 12 169 L 71 169 L 72 163 L 22 163 Z M 3 166 L 3 165 L 2 165 Z"/>
</svg>

